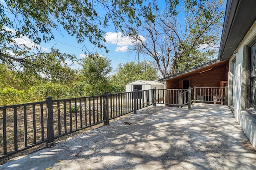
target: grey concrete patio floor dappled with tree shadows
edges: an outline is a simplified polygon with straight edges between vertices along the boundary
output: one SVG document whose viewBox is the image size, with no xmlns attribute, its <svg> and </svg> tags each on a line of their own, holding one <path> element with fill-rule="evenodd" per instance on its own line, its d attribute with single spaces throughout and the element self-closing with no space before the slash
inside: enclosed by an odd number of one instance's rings
<svg viewBox="0 0 256 170">
<path fill-rule="evenodd" d="M 228 106 L 151 106 L 0 166 L 46 168 L 255 170 L 256 152 Z"/>
</svg>

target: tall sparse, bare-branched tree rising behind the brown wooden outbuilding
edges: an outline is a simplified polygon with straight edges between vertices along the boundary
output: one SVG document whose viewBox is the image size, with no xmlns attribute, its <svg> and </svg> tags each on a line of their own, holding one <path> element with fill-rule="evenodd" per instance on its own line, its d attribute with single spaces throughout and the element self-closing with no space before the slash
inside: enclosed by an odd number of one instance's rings
<svg viewBox="0 0 256 170">
<path fill-rule="evenodd" d="M 156 22 L 146 21 L 132 36 L 136 50 L 152 57 L 162 77 L 197 66 L 218 53 L 224 16 L 223 0 L 186 0 L 180 11 L 166 5 Z M 184 17 L 180 21 L 180 16 Z"/>
</svg>

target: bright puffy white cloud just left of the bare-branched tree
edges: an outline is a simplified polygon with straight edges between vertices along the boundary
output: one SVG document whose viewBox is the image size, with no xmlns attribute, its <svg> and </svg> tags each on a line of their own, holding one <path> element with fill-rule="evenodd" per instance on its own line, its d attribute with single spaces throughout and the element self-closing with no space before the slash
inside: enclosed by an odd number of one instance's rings
<svg viewBox="0 0 256 170">
<path fill-rule="evenodd" d="M 107 32 L 104 38 L 106 39 L 107 43 L 116 44 L 117 47 L 115 51 L 125 52 L 128 50 L 128 46 L 134 45 L 134 40 L 128 36 L 124 36 L 121 32 Z M 140 38 L 142 41 L 145 41 L 143 36 L 140 36 Z"/>
</svg>

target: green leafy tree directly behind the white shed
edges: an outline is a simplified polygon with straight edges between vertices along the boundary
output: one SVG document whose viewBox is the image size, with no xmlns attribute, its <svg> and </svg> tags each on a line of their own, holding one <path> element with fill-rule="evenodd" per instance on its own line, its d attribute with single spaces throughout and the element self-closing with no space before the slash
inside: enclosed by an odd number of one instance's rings
<svg viewBox="0 0 256 170">
<path fill-rule="evenodd" d="M 135 80 L 157 80 L 157 70 L 150 62 L 140 62 L 136 64 L 134 61 L 125 64 L 119 64 L 116 69 L 116 74 L 111 76 L 110 82 L 114 85 L 122 86 L 122 91 L 125 91 L 125 84 Z"/>
</svg>

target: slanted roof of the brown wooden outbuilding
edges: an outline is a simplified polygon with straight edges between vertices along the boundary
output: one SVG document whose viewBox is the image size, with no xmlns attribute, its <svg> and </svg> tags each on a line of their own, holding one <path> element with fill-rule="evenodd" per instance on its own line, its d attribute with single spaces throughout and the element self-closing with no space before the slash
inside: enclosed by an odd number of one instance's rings
<svg viewBox="0 0 256 170">
<path fill-rule="evenodd" d="M 208 63 L 204 63 L 204 64 L 201 64 L 199 66 L 196 66 L 194 68 L 190 68 L 188 70 L 179 72 L 177 74 L 174 74 L 174 75 L 171 75 L 171 76 L 168 76 L 168 77 L 164 77 L 162 79 L 159 79 L 158 81 L 164 82 L 166 80 L 170 80 L 170 79 L 174 79 L 174 78 L 182 79 L 182 78 L 194 76 L 196 74 L 200 74 L 200 73 L 210 71 L 210 70 L 215 69 L 215 68 L 222 67 L 222 66 L 226 65 L 227 63 L 228 63 L 228 60 L 220 61 L 220 60 L 216 59 L 216 60 L 210 61 Z"/>
</svg>

